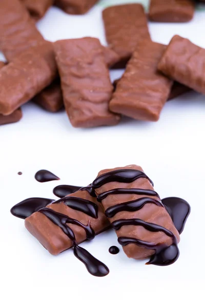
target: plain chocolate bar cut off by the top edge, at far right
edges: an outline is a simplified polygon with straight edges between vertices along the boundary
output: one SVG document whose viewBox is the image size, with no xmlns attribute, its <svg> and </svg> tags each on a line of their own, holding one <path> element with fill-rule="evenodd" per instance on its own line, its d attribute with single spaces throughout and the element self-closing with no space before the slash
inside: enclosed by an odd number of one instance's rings
<svg viewBox="0 0 205 308">
<path fill-rule="evenodd" d="M 192 0 L 151 0 L 149 20 L 162 23 L 184 23 L 192 20 L 194 15 Z"/>
</svg>

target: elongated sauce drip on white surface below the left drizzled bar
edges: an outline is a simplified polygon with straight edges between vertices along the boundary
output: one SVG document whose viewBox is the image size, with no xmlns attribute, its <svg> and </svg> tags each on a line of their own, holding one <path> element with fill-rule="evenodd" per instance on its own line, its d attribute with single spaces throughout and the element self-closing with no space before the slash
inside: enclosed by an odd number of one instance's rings
<svg viewBox="0 0 205 308">
<path fill-rule="evenodd" d="M 74 255 L 86 265 L 86 268 L 91 275 L 104 277 L 109 274 L 109 268 L 103 262 L 93 257 L 86 249 L 75 245 Z"/>
</svg>

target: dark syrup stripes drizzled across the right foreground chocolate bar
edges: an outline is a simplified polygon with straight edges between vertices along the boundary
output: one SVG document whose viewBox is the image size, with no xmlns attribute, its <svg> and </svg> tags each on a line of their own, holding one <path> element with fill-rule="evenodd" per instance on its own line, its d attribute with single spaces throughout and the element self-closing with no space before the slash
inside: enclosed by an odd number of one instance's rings
<svg viewBox="0 0 205 308">
<path fill-rule="evenodd" d="M 104 184 L 110 183 L 110 182 L 119 182 L 119 183 L 132 183 L 136 179 L 139 178 L 146 178 L 150 181 L 150 183 L 153 185 L 153 182 L 145 175 L 144 172 L 140 170 L 133 170 L 133 169 L 119 169 L 119 170 L 113 170 L 110 172 L 107 172 L 106 174 L 103 174 L 96 178 L 92 184 L 94 188 L 99 188 Z M 117 189 L 118 190 L 118 189 Z M 114 194 L 113 190 L 110 190 L 111 194 Z M 103 200 L 107 196 L 110 195 L 110 191 L 105 192 L 104 194 L 99 195 L 99 200 Z M 148 191 L 149 192 L 149 191 Z M 117 191 L 118 193 L 118 191 Z M 119 190 L 120 194 L 133 194 L 133 190 Z M 149 192 L 150 193 L 150 192 Z M 106 196 L 106 197 L 105 197 Z M 156 196 L 156 195 L 154 195 Z M 128 201 L 125 203 L 117 204 L 112 207 L 109 207 L 105 211 L 105 215 L 109 218 L 114 217 L 117 213 L 120 211 L 136 211 L 141 209 L 146 203 L 154 203 L 158 206 L 163 206 L 163 204 L 153 198 L 143 197 L 139 198 L 137 200 Z M 151 256 L 150 261 L 147 264 L 155 264 L 155 265 L 170 265 L 174 263 L 179 256 L 179 250 L 177 246 L 177 239 L 174 236 L 170 230 L 157 225 L 148 223 L 146 221 L 142 221 L 140 219 L 123 219 L 123 220 L 117 220 L 114 221 L 112 224 L 112 227 L 116 230 L 121 228 L 124 225 L 136 225 L 136 226 L 143 226 L 146 229 L 148 229 L 150 232 L 164 232 L 166 235 L 172 238 L 172 245 L 167 246 L 165 244 L 154 244 L 149 243 L 145 241 L 141 241 L 136 238 L 130 238 L 130 237 L 119 237 L 118 242 L 122 246 L 128 245 L 128 244 L 136 244 L 138 246 L 145 247 L 147 249 L 153 249 L 155 251 L 155 254 Z"/>
</svg>

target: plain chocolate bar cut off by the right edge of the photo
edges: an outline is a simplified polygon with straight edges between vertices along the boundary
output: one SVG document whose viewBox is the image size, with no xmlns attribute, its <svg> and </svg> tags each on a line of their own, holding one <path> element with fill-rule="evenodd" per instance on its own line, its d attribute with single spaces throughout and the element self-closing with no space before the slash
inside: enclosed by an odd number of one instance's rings
<svg viewBox="0 0 205 308">
<path fill-rule="evenodd" d="M 205 49 L 175 35 L 158 64 L 170 78 L 205 94 Z"/>
</svg>

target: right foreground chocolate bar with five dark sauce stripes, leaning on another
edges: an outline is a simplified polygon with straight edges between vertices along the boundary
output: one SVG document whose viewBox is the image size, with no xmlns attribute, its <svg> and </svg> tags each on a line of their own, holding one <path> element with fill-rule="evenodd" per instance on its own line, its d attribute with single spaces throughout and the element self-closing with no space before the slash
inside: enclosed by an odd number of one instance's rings
<svg viewBox="0 0 205 308">
<path fill-rule="evenodd" d="M 92 187 L 129 258 L 151 256 L 156 265 L 178 258 L 179 233 L 141 167 L 102 170 Z"/>
</svg>

